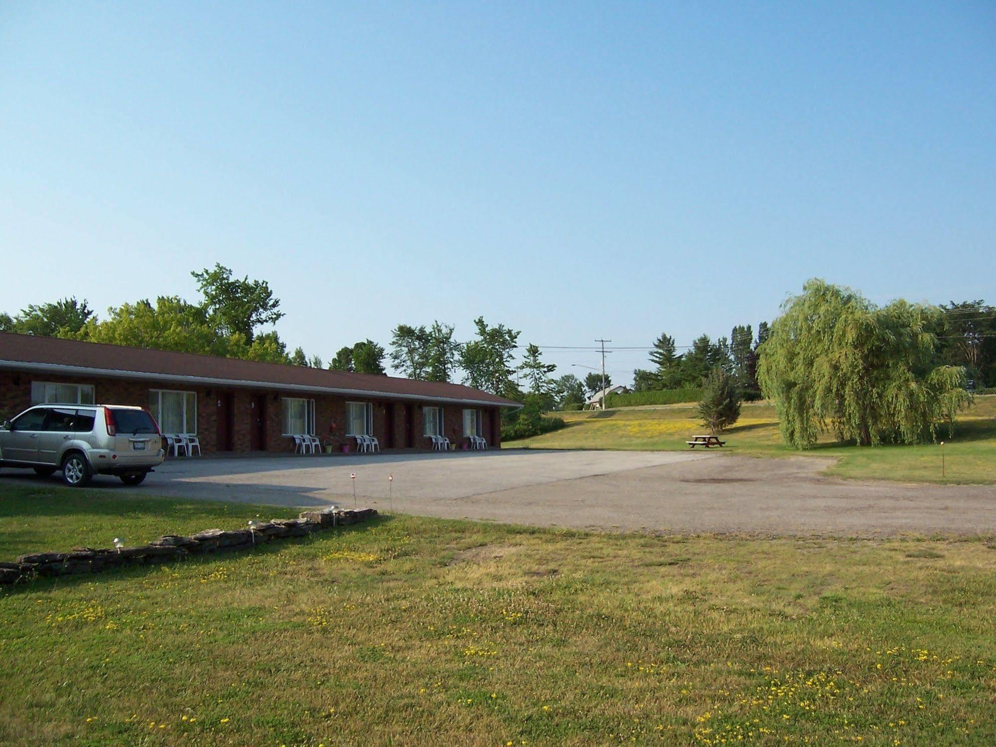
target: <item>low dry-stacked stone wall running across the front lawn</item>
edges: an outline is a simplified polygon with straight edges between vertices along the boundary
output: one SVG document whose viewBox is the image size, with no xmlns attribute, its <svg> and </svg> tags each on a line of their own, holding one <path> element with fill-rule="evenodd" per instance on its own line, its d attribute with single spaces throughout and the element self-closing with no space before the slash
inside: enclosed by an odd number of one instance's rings
<svg viewBox="0 0 996 747">
<path fill-rule="evenodd" d="M 251 529 L 226 532 L 207 529 L 190 537 L 165 535 L 140 547 L 115 550 L 76 548 L 68 553 L 22 555 L 15 563 L 0 563 L 0 584 L 16 584 L 38 577 L 98 573 L 113 568 L 180 560 L 190 555 L 249 550 L 273 540 L 304 537 L 313 532 L 368 521 L 376 509 L 305 511 L 297 519 L 274 519 Z"/>
</svg>

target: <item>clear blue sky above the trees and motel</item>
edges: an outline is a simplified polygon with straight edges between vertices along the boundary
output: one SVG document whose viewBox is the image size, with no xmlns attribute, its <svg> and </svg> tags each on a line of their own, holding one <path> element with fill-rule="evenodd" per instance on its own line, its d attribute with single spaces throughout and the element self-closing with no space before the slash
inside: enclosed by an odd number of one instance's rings
<svg viewBox="0 0 996 747">
<path fill-rule="evenodd" d="M 478 315 L 686 345 L 813 276 L 996 301 L 994 250 L 989 2 L 0 6 L 11 313 L 218 261 L 326 360 Z"/>
</svg>

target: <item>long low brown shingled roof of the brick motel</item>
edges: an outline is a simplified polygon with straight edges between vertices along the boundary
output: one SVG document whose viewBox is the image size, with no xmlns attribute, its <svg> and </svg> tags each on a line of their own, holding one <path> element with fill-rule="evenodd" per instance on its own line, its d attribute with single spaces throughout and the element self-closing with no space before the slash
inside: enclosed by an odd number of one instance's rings
<svg viewBox="0 0 996 747">
<path fill-rule="evenodd" d="M 187 378 L 254 388 L 369 393 L 412 399 L 448 399 L 519 406 L 517 402 L 459 383 L 416 381 L 373 373 L 309 369 L 303 366 L 241 361 L 77 340 L 0 333 L 0 369 L 48 370 L 116 378 Z"/>
</svg>

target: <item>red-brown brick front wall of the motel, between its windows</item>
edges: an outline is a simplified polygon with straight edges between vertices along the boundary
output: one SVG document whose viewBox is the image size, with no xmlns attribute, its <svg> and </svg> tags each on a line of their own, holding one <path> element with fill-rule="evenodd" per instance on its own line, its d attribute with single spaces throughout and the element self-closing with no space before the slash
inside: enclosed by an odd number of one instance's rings
<svg viewBox="0 0 996 747">
<path fill-rule="evenodd" d="M 324 443 L 331 443 L 333 449 L 339 451 L 344 443 L 350 450 L 356 449 L 356 441 L 346 436 L 346 402 L 359 401 L 359 398 L 348 398 L 339 395 L 317 394 L 314 397 L 294 392 L 252 391 L 250 389 L 231 389 L 221 386 L 185 386 L 170 381 L 154 381 L 151 379 L 118 379 L 100 377 L 59 376 L 43 373 L 0 372 L 0 420 L 8 419 L 31 405 L 32 381 L 55 381 L 60 383 L 86 383 L 94 385 L 94 397 L 100 403 L 134 404 L 148 406 L 149 389 L 182 389 L 193 391 L 197 395 L 197 434 L 200 437 L 201 449 L 210 453 L 218 450 L 219 410 L 222 409 L 222 397 L 232 395 L 232 447 L 234 451 L 246 452 L 252 446 L 252 428 L 257 417 L 257 402 L 261 401 L 265 421 L 265 449 L 267 451 L 293 451 L 293 439 L 281 435 L 283 420 L 283 397 L 304 396 L 315 399 L 315 431 Z M 372 399 L 373 402 L 373 435 L 380 441 L 380 446 L 386 448 L 393 442 L 396 449 L 406 448 L 405 421 L 406 411 L 410 408 L 412 445 L 415 449 L 431 448 L 427 437 L 422 435 L 422 403 L 411 400 Z M 393 404 L 393 439 L 388 437 L 388 405 Z M 498 420 L 497 407 L 481 408 L 481 434 L 492 447 L 501 445 L 499 428 L 495 427 Z M 443 432 L 451 443 L 460 448 L 463 438 L 463 406 L 458 404 L 443 405 Z"/>
</svg>

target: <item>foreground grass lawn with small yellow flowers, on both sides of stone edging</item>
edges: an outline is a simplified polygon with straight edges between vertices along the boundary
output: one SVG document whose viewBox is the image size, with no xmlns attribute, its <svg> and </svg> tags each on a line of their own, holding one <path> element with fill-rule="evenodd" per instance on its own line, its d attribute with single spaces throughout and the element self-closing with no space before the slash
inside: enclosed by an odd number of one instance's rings
<svg viewBox="0 0 996 747">
<path fill-rule="evenodd" d="M 0 486 L 0 558 L 257 513 Z M 397 516 L 36 581 L 0 743 L 992 743 L 994 548 Z"/>
</svg>

